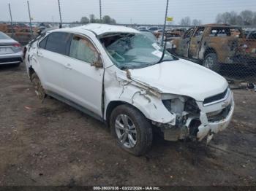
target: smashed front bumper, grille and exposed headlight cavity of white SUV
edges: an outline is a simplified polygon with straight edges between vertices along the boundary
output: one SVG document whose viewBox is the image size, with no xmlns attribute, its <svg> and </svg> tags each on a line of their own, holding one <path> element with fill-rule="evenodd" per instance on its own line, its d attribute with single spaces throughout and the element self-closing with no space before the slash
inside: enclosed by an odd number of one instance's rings
<svg viewBox="0 0 256 191">
<path fill-rule="evenodd" d="M 162 99 L 170 114 L 176 116 L 175 125 L 152 122 L 161 128 L 164 139 L 178 141 L 192 139 L 202 141 L 207 137 L 211 141 L 214 133 L 227 128 L 234 110 L 233 94 L 229 88 L 224 93 L 195 101 L 193 98 L 171 95 Z"/>
</svg>

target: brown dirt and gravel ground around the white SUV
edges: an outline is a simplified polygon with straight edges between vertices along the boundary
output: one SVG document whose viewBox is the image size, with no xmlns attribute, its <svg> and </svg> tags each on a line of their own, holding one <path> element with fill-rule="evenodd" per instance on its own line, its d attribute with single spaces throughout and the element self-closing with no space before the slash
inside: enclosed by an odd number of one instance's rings
<svg viewBox="0 0 256 191">
<path fill-rule="evenodd" d="M 0 185 L 256 185 L 256 93 L 234 95 L 233 121 L 208 147 L 155 136 L 135 157 L 102 122 L 39 101 L 24 64 L 0 66 Z"/>
</svg>

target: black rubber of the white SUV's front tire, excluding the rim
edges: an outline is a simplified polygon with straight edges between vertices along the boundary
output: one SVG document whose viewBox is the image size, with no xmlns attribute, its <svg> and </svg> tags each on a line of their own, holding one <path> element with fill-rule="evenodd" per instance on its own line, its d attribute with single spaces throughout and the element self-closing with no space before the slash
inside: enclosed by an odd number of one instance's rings
<svg viewBox="0 0 256 191">
<path fill-rule="evenodd" d="M 126 114 L 135 124 L 135 128 L 137 130 L 137 142 L 135 147 L 124 147 L 124 144 L 121 144 L 116 135 L 115 122 L 116 117 L 118 117 L 119 114 Z M 110 130 L 112 135 L 116 138 L 117 144 L 122 149 L 126 150 L 129 153 L 132 153 L 133 155 L 143 155 L 151 147 L 152 128 L 150 122 L 148 122 L 148 119 L 138 109 L 135 109 L 128 104 L 117 106 L 116 109 L 113 110 L 110 116 Z"/>
</svg>

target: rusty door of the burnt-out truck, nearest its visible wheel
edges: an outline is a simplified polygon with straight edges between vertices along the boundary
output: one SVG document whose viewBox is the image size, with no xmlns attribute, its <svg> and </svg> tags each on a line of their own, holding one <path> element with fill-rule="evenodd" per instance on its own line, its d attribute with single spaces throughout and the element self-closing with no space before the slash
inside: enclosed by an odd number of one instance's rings
<svg viewBox="0 0 256 191">
<path fill-rule="evenodd" d="M 189 42 L 189 57 L 190 58 L 198 58 L 198 52 L 201 46 L 201 40 L 203 37 L 203 31 L 205 30 L 204 27 L 198 27 L 194 32 L 193 36 Z"/>
</svg>

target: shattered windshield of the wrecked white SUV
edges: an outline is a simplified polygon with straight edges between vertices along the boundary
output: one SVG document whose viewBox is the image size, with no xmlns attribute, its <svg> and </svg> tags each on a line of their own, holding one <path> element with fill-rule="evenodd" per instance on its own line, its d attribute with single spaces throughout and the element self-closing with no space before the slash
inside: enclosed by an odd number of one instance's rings
<svg viewBox="0 0 256 191">
<path fill-rule="evenodd" d="M 151 33 L 108 34 L 100 41 L 113 63 L 119 69 L 140 69 L 159 62 L 163 47 Z M 177 58 L 165 51 L 162 61 L 174 61 Z"/>
</svg>

